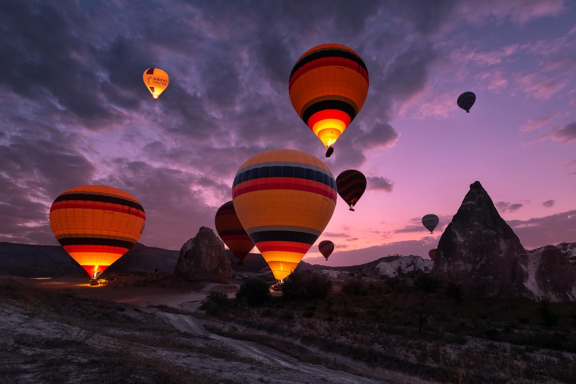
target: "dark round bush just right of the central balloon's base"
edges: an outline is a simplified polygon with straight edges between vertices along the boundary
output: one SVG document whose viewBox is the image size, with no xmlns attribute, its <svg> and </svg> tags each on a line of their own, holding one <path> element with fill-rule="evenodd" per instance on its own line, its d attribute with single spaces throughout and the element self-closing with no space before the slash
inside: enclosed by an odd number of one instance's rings
<svg viewBox="0 0 576 384">
<path fill-rule="evenodd" d="M 311 271 L 293 272 L 282 285 L 283 298 L 324 299 L 332 290 L 332 280 L 325 275 Z"/>
</svg>

